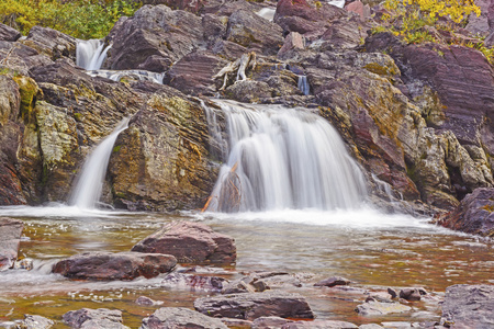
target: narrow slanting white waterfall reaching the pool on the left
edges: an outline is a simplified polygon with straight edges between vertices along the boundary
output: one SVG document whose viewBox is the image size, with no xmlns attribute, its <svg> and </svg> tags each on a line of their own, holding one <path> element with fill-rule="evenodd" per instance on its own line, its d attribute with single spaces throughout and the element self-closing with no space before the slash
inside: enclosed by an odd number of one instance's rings
<svg viewBox="0 0 494 329">
<path fill-rule="evenodd" d="M 108 162 L 119 134 L 128 126 L 130 118 L 124 118 L 116 128 L 104 138 L 86 160 L 82 171 L 77 180 L 76 189 L 72 191 L 69 205 L 79 208 L 94 208 L 103 190 L 104 174 Z"/>
</svg>

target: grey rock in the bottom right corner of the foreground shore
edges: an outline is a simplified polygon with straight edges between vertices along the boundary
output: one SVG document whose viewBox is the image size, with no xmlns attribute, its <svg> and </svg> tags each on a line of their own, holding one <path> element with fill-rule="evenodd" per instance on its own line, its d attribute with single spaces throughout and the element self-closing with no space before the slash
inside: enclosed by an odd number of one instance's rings
<svg viewBox="0 0 494 329">
<path fill-rule="evenodd" d="M 451 328 L 494 326 L 494 286 L 458 284 L 446 290 L 442 318 Z"/>
</svg>

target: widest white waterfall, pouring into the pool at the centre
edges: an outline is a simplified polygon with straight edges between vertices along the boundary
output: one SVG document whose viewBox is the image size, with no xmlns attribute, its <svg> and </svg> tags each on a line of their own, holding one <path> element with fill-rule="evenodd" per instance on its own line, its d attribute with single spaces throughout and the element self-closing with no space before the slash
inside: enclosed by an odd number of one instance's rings
<svg viewBox="0 0 494 329">
<path fill-rule="evenodd" d="M 363 174 L 324 118 L 301 109 L 216 102 L 229 154 L 209 211 L 353 208 L 366 197 Z"/>
</svg>

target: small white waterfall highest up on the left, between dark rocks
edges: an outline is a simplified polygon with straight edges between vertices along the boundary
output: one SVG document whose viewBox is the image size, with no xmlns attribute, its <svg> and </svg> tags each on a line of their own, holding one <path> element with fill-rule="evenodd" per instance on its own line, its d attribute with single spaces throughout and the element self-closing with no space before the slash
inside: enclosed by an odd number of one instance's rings
<svg viewBox="0 0 494 329">
<path fill-rule="evenodd" d="M 86 70 L 99 70 L 111 46 L 104 47 L 100 39 L 80 39 L 77 43 L 76 64 Z"/>
</svg>

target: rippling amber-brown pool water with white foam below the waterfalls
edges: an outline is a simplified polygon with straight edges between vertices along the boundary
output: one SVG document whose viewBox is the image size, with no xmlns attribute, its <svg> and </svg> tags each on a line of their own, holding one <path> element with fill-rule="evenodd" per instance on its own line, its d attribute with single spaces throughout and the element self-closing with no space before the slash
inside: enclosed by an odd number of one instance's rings
<svg viewBox="0 0 494 329">
<path fill-rule="evenodd" d="M 33 208 L 33 212 L 36 208 Z M 0 209 L 2 215 L 2 209 Z M 0 273 L 0 321 L 38 314 L 60 320 L 68 310 L 82 307 L 116 308 L 124 324 L 137 328 L 155 307 L 136 306 L 149 296 L 164 306 L 192 308 L 205 292 L 169 291 L 160 279 L 134 282 L 72 282 L 49 273 L 59 258 L 82 251 L 126 251 L 164 223 L 173 219 L 201 220 L 236 239 L 238 261 L 228 279 L 240 272 L 287 271 L 308 273 L 307 284 L 292 288 L 305 296 L 319 318 L 356 324 L 381 320 L 437 319 L 437 300 L 413 304 L 414 311 L 386 318 L 364 318 L 355 313 L 364 291 L 388 286 L 424 286 L 444 292 L 459 283 L 491 283 L 493 243 L 452 234 L 412 217 L 386 217 L 377 213 L 322 214 L 288 212 L 243 215 L 104 214 L 101 216 L 44 216 L 26 213 L 7 215 L 25 222 L 20 254 L 35 259 L 37 271 Z M 312 274 L 311 274 L 312 273 Z M 350 279 L 356 291 L 314 288 L 312 283 L 330 275 Z M 58 324 L 56 328 L 66 328 Z"/>
</svg>

